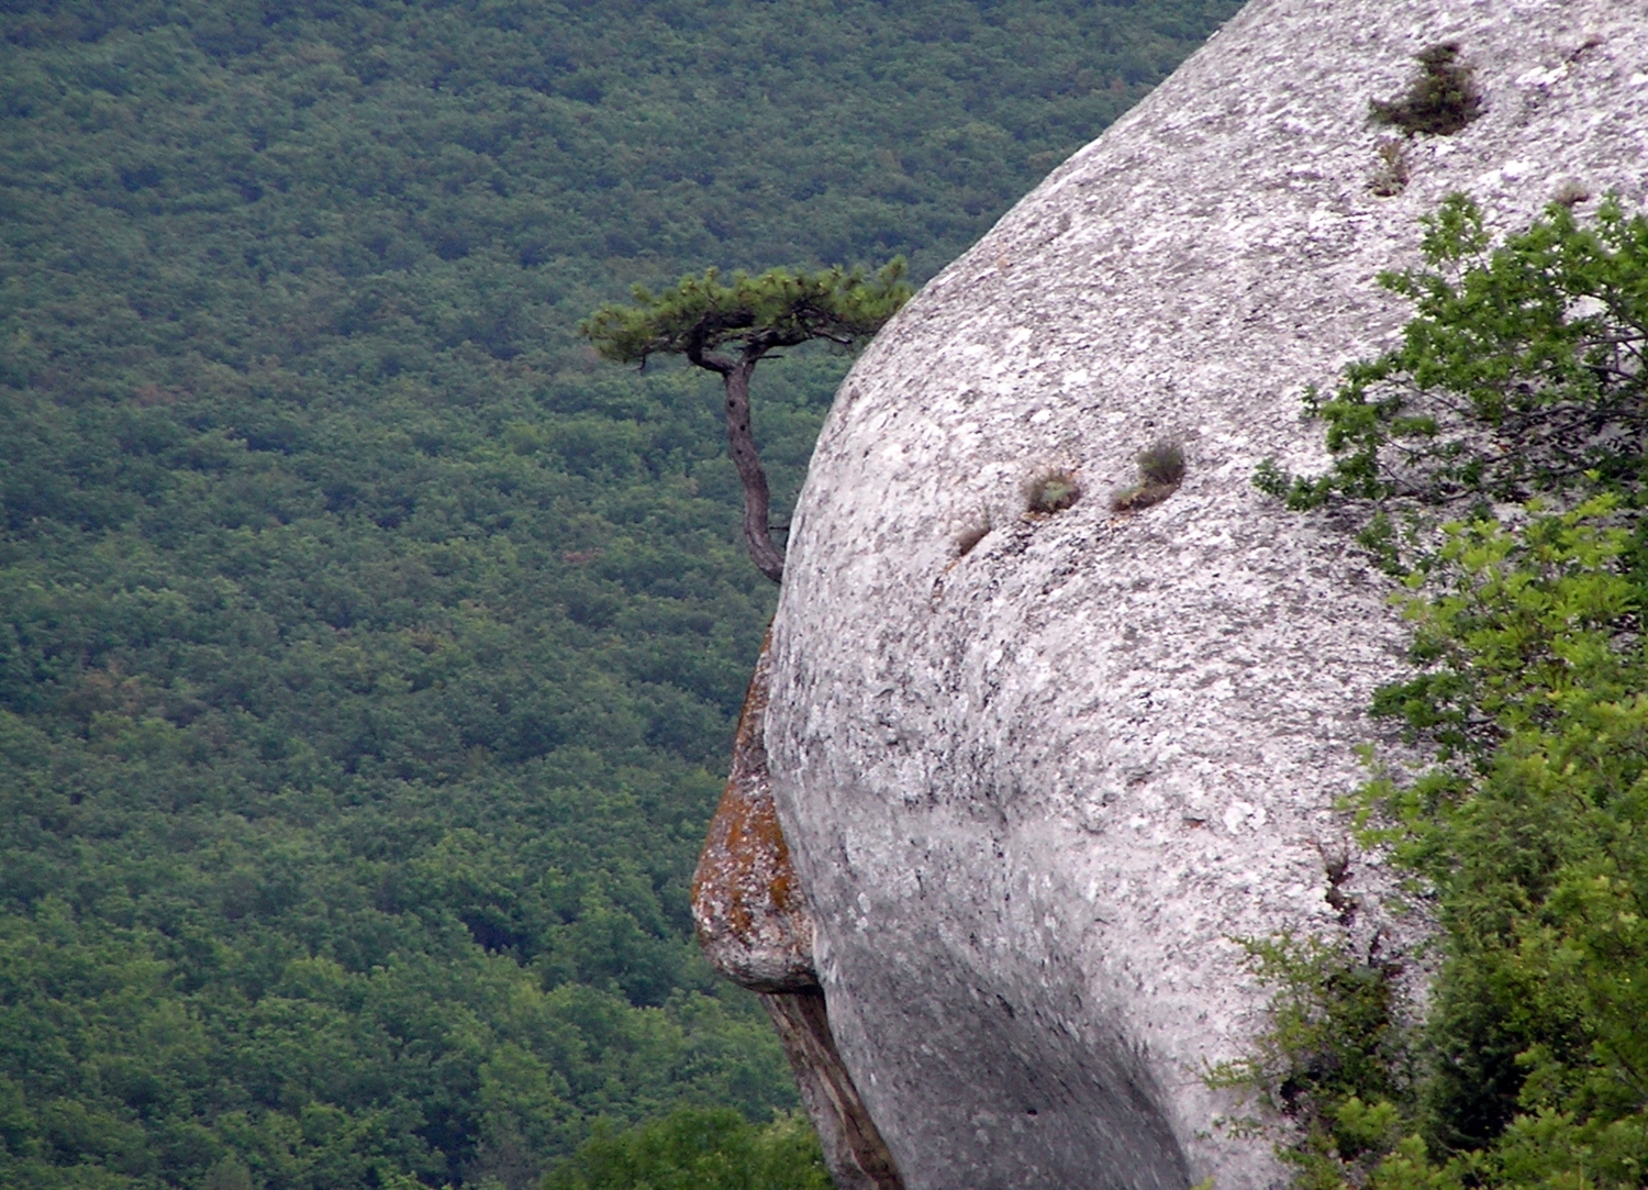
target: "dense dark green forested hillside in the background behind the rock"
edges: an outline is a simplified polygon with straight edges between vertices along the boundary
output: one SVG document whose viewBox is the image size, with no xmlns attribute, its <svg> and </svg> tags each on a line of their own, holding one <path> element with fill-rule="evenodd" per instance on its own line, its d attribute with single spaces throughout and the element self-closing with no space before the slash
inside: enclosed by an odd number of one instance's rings
<svg viewBox="0 0 1648 1190">
<path fill-rule="evenodd" d="M 773 588 L 574 326 L 931 275 L 1236 0 L 0 10 L 0 1185 L 534 1185 L 793 1106 L 686 885 Z M 780 508 L 845 361 L 756 382 Z"/>
</svg>

